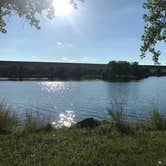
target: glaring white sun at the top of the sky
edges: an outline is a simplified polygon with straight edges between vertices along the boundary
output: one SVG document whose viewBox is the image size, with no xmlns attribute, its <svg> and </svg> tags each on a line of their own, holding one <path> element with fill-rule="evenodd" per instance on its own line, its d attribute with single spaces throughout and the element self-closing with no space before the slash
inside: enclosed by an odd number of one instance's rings
<svg viewBox="0 0 166 166">
<path fill-rule="evenodd" d="M 53 7 L 56 16 L 69 16 L 73 11 L 70 0 L 53 0 Z"/>
</svg>

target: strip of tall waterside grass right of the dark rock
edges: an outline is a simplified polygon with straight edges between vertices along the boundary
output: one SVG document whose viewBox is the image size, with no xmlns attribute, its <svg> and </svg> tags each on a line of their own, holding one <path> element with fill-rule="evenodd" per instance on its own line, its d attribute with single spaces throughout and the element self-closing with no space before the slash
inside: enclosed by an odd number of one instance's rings
<svg viewBox="0 0 166 166">
<path fill-rule="evenodd" d="M 147 120 L 141 122 L 134 122 L 130 125 L 125 119 L 126 115 L 124 114 L 123 107 L 119 104 L 115 104 L 113 105 L 113 107 L 109 108 L 108 114 L 111 116 L 111 122 L 114 127 L 118 131 L 123 133 L 128 133 L 129 131 L 132 131 L 131 127 L 134 127 L 134 130 L 142 131 L 166 130 L 166 116 L 159 111 L 156 105 L 153 105 Z"/>
</svg>

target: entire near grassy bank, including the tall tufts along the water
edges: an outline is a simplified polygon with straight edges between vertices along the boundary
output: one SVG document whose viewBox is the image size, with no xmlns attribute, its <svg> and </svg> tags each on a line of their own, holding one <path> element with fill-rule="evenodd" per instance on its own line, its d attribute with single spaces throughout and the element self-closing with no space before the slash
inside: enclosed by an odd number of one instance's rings
<svg viewBox="0 0 166 166">
<path fill-rule="evenodd" d="M 0 166 L 166 165 L 165 118 L 156 108 L 144 123 L 129 124 L 120 109 L 109 114 L 110 122 L 90 119 L 55 129 L 30 115 L 20 126 L 3 106 Z"/>
</svg>

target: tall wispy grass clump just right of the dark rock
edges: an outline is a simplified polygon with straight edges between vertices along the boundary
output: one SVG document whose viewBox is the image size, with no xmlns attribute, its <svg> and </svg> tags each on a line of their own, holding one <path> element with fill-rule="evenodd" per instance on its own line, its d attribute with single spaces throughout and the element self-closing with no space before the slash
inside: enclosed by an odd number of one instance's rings
<svg viewBox="0 0 166 166">
<path fill-rule="evenodd" d="M 126 134 L 131 131 L 128 122 L 125 120 L 123 107 L 121 105 L 115 104 L 109 108 L 108 115 L 111 116 L 111 122 L 116 130 Z"/>
</svg>

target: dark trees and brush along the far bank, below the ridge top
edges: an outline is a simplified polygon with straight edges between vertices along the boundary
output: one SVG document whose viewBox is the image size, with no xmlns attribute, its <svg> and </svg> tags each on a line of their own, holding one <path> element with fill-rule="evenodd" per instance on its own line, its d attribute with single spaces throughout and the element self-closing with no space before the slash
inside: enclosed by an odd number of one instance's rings
<svg viewBox="0 0 166 166">
<path fill-rule="evenodd" d="M 148 76 L 166 75 L 158 67 L 152 73 L 149 67 L 143 67 L 138 62 L 111 61 L 104 67 L 89 67 L 87 65 L 6 65 L 0 66 L 0 77 L 23 80 L 24 78 L 48 78 L 49 80 L 85 80 L 102 79 L 106 81 L 129 81 L 146 78 Z"/>
</svg>

